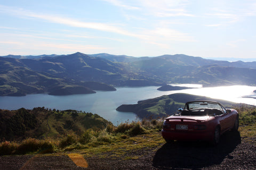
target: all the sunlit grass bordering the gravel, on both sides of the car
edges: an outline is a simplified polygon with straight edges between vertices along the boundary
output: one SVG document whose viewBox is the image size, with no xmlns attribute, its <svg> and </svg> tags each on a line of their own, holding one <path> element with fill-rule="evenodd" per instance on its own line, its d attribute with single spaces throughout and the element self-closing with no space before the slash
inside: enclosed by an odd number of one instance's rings
<svg viewBox="0 0 256 170">
<path fill-rule="evenodd" d="M 255 143 L 255 107 L 238 107 L 239 133 L 242 140 Z M 65 113 L 64 113 L 65 114 Z M 67 115 L 64 115 L 67 116 Z M 97 116 L 96 116 L 97 117 Z M 75 151 L 85 157 L 98 156 L 122 159 L 138 159 L 132 152 L 154 150 L 165 143 L 161 135 L 163 119 L 142 120 L 122 123 L 118 126 L 108 124 L 105 129 L 87 129 L 83 133 L 69 133 L 65 137 L 37 140 L 28 138 L 21 142 L 0 143 L 2 155 Z M 130 155 L 129 155 L 130 154 Z"/>
</svg>

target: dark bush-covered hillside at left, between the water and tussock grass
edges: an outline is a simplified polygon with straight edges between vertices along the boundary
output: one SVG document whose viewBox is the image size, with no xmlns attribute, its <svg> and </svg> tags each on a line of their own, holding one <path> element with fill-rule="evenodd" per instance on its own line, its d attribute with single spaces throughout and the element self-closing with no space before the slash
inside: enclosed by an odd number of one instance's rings
<svg viewBox="0 0 256 170">
<path fill-rule="evenodd" d="M 15 111 L 0 109 L 0 139 L 21 140 L 29 137 L 63 137 L 82 134 L 86 129 L 102 130 L 111 122 L 92 113 L 74 110 L 56 111 L 44 107 Z"/>
</svg>

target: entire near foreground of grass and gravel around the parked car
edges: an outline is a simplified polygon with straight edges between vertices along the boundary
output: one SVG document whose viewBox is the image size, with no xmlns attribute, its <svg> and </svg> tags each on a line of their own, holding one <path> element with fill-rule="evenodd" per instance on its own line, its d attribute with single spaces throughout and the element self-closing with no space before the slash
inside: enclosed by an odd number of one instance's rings
<svg viewBox="0 0 256 170">
<path fill-rule="evenodd" d="M 217 146 L 204 141 L 166 143 L 159 132 L 163 120 L 144 119 L 108 125 L 99 131 L 87 130 L 82 135 L 69 134 L 60 140 L 0 142 L 0 168 L 255 169 L 255 107 L 236 109 L 238 132 L 222 134 Z"/>
</svg>

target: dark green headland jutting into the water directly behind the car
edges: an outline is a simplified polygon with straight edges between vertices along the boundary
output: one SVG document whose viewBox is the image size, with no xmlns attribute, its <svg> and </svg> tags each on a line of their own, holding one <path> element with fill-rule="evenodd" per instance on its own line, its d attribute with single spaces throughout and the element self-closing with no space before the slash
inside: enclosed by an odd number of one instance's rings
<svg viewBox="0 0 256 170">
<path fill-rule="evenodd" d="M 172 94 L 161 97 L 138 101 L 138 104 L 121 105 L 116 108 L 119 112 L 133 112 L 140 118 L 158 118 L 166 117 L 178 112 L 179 108 L 183 108 L 187 101 L 193 100 L 214 100 L 220 102 L 225 107 L 238 106 L 230 101 L 212 99 L 205 96 L 196 96 L 189 94 Z"/>
</svg>

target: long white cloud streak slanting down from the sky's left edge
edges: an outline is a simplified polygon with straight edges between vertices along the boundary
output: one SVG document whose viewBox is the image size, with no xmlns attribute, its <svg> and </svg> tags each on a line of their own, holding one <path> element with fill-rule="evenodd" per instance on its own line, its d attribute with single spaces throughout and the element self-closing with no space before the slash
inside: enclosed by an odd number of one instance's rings
<svg viewBox="0 0 256 170">
<path fill-rule="evenodd" d="M 9 14 L 11 13 L 11 14 L 17 15 L 18 17 L 26 16 L 30 18 L 45 20 L 48 22 L 65 24 L 65 25 L 69 25 L 70 27 L 89 28 L 89 29 L 106 31 L 106 32 L 114 32 L 119 35 L 140 38 L 143 40 L 157 41 L 159 40 L 159 38 L 162 40 L 164 37 L 165 39 L 169 39 L 173 41 L 193 41 L 191 37 L 189 37 L 186 33 L 182 33 L 176 30 L 168 29 L 168 28 L 163 28 L 163 29 L 156 28 L 155 30 L 151 29 L 151 30 L 145 30 L 143 32 L 140 32 L 140 31 L 131 32 L 131 31 L 126 31 L 119 27 L 115 27 L 113 26 L 113 24 L 83 22 L 83 21 L 78 21 L 76 19 L 72 19 L 72 18 L 65 18 L 62 16 L 54 16 L 50 14 L 37 14 L 34 12 L 25 11 L 25 10 L 12 8 L 12 7 L 6 7 L 2 5 L 0 5 L 0 11 L 2 12 L 4 11 L 5 13 L 9 13 Z"/>
</svg>

